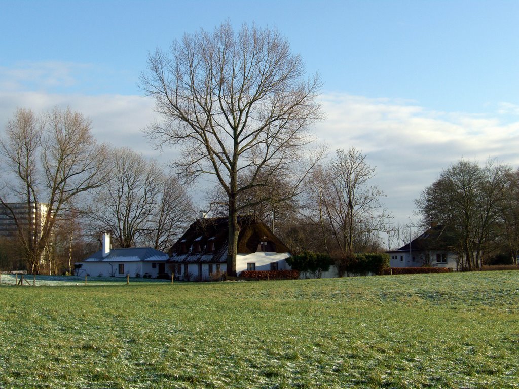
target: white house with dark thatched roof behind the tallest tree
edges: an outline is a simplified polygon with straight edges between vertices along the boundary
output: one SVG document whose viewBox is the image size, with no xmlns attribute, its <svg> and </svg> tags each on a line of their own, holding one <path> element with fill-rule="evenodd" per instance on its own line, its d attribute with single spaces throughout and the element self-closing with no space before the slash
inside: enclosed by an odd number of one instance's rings
<svg viewBox="0 0 519 389">
<path fill-rule="evenodd" d="M 236 272 L 243 270 L 288 270 L 289 249 L 258 218 L 239 216 Z M 177 279 L 218 279 L 227 270 L 228 225 L 226 217 L 195 221 L 173 245 L 168 263 Z"/>
</svg>

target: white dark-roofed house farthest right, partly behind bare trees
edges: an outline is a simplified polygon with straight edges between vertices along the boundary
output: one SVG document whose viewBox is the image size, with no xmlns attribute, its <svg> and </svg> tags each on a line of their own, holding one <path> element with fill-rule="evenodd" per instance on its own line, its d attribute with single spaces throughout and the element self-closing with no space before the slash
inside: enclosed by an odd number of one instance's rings
<svg viewBox="0 0 519 389">
<path fill-rule="evenodd" d="M 415 268 L 424 265 L 456 270 L 458 256 L 449 250 L 445 228 L 433 224 L 405 246 L 388 251 L 392 268 Z"/>
</svg>

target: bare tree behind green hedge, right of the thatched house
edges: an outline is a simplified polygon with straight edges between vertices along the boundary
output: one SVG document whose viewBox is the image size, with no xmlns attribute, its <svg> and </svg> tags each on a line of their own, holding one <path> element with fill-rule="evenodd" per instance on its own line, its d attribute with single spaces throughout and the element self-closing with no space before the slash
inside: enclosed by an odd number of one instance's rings
<svg viewBox="0 0 519 389">
<path fill-rule="evenodd" d="M 384 192 L 370 185 L 374 176 L 375 168 L 352 147 L 337 150 L 307 184 L 306 215 L 322 231 L 330 252 L 344 258 L 379 245 L 379 233 L 392 216 L 380 202 Z"/>
</svg>

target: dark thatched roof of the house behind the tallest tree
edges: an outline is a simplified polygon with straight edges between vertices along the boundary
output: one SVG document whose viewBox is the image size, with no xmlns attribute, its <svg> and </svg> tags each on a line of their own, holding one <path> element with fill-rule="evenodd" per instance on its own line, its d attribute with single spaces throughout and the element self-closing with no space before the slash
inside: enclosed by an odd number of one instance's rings
<svg viewBox="0 0 519 389">
<path fill-rule="evenodd" d="M 238 216 L 238 225 L 238 254 L 255 253 L 261 242 L 268 242 L 269 252 L 289 252 L 288 247 L 259 218 Z M 169 260 L 182 263 L 225 263 L 228 233 L 227 217 L 198 219 L 171 247 Z M 196 252 L 197 244 L 199 252 Z"/>
</svg>

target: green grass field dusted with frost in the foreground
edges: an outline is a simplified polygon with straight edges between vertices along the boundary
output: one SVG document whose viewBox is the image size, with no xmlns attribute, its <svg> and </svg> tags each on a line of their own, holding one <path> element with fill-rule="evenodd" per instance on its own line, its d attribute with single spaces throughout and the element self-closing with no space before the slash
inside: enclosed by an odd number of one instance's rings
<svg viewBox="0 0 519 389">
<path fill-rule="evenodd" d="M 519 387 L 519 272 L 0 286 L 0 387 Z"/>
</svg>

